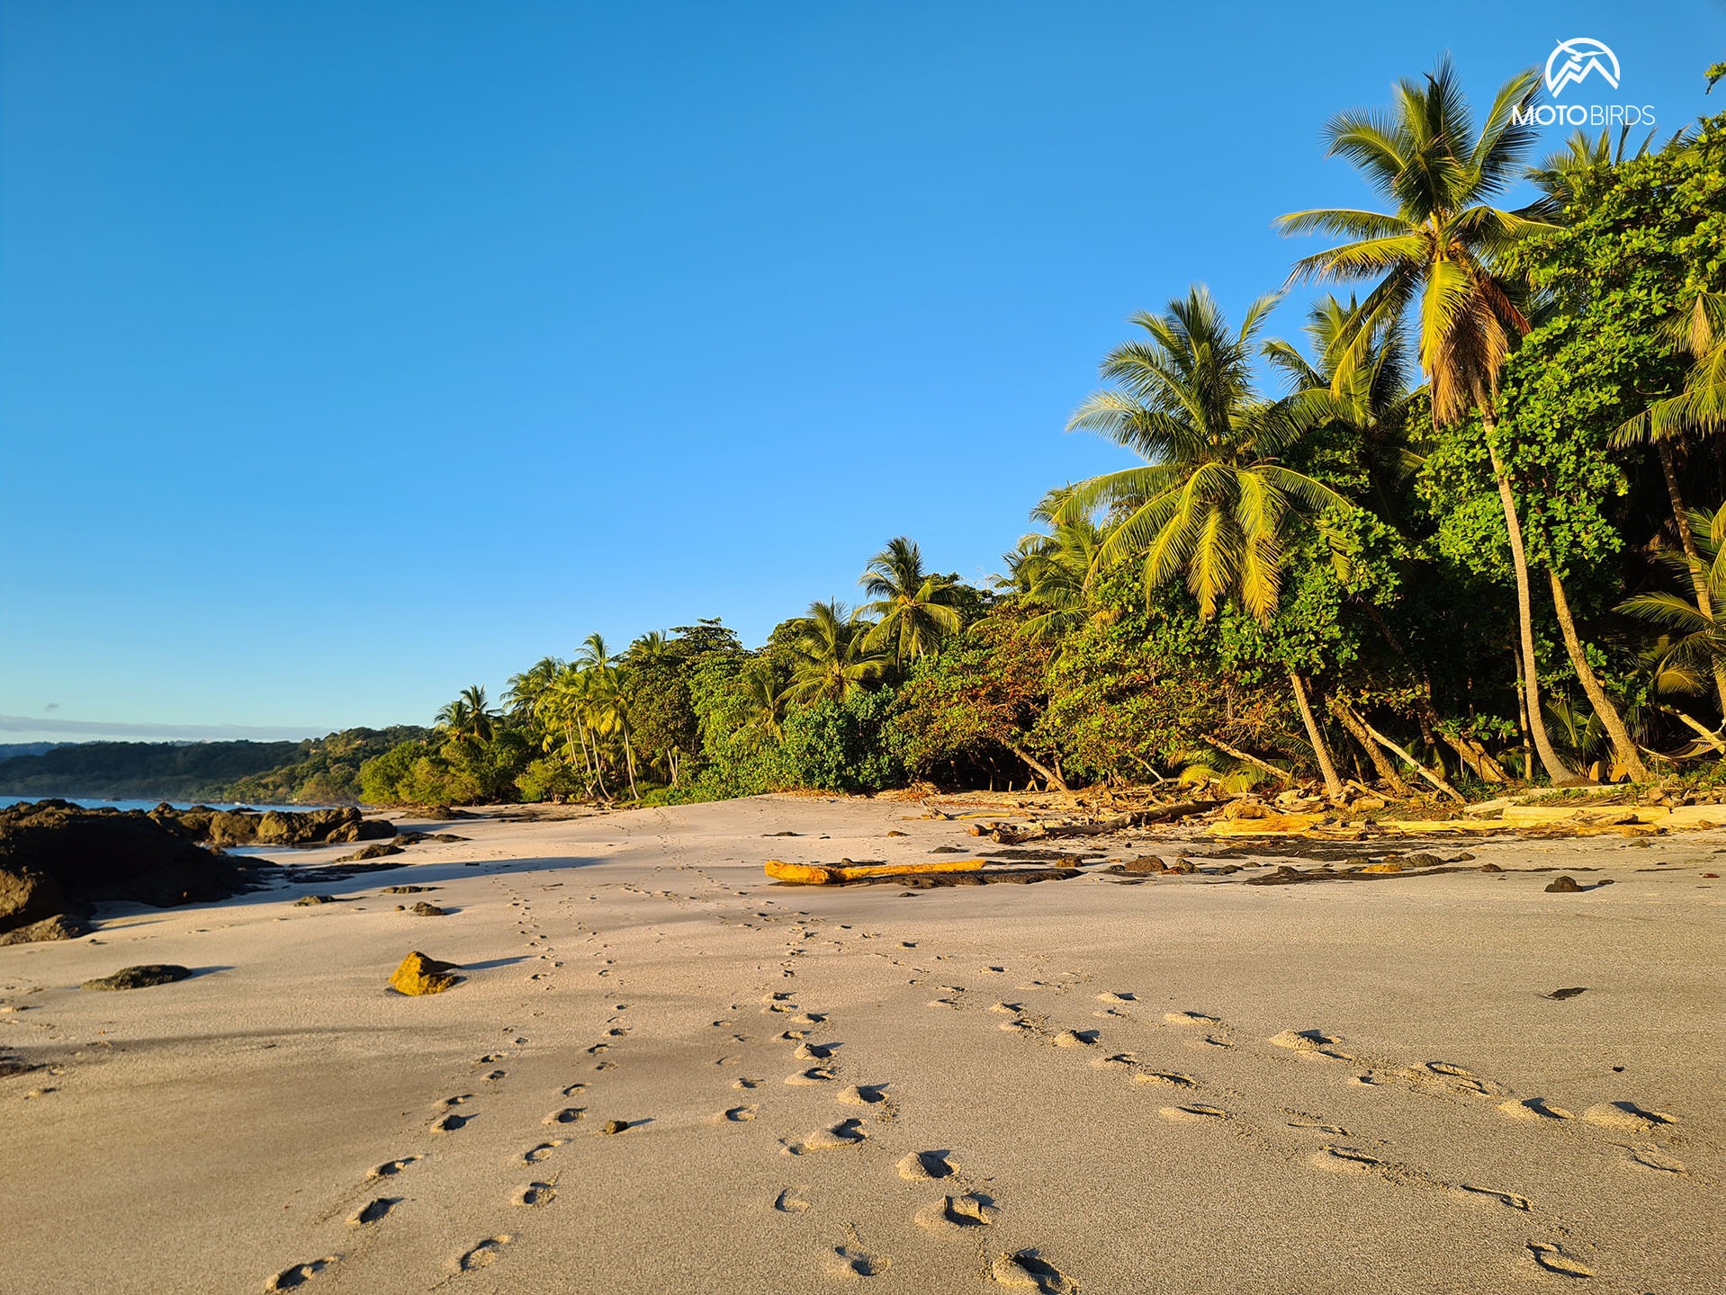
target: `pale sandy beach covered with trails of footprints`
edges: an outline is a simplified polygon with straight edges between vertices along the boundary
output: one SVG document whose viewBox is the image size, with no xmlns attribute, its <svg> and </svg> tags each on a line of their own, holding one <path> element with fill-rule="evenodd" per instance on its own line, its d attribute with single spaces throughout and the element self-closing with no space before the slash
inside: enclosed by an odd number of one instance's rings
<svg viewBox="0 0 1726 1295">
<path fill-rule="evenodd" d="M 0 1290 L 1723 1288 L 1726 833 L 1367 885 L 763 878 L 977 848 L 918 812 L 407 823 L 468 840 L 0 948 L 40 1067 L 0 1079 Z M 466 979 L 387 990 L 416 948 Z M 197 974 L 78 988 L 145 962 Z"/>
</svg>

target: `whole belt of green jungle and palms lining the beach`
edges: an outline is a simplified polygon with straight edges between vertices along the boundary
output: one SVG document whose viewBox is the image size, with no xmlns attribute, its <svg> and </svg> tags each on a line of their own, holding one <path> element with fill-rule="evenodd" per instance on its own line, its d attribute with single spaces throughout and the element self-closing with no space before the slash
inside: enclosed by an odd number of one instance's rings
<svg viewBox="0 0 1726 1295">
<path fill-rule="evenodd" d="M 1301 338 L 1265 336 L 1282 295 L 1136 316 L 1070 428 L 1143 464 L 1053 490 L 992 586 L 898 538 L 861 607 L 754 650 L 718 621 L 595 635 L 368 760 L 366 798 L 1712 769 L 1726 117 L 1531 166 L 1538 83 L 1476 114 L 1446 62 L 1338 116 L 1329 152 L 1381 202 L 1284 216 L 1336 245 L 1282 291 L 1351 295 Z"/>
</svg>

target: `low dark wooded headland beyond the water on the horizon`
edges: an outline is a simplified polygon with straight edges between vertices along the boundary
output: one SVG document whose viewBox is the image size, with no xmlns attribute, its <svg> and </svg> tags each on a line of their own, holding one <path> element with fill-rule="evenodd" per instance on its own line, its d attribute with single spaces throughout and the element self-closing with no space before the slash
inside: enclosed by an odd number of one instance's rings
<svg viewBox="0 0 1726 1295">
<path fill-rule="evenodd" d="M 402 724 L 307 741 L 76 741 L 0 759 L 0 795 L 357 804 L 359 766 L 421 736 Z"/>
</svg>

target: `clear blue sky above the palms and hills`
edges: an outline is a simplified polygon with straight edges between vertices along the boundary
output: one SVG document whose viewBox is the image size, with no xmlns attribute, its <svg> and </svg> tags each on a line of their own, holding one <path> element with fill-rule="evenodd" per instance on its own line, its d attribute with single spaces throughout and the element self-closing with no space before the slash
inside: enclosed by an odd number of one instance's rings
<svg viewBox="0 0 1726 1295">
<path fill-rule="evenodd" d="M 901 533 L 980 579 L 1124 462 L 1061 426 L 1131 312 L 1364 198 L 1331 112 L 1564 36 L 1719 110 L 1726 10 L 1650 12 L 5 0 L 0 740 L 426 723 Z"/>
</svg>

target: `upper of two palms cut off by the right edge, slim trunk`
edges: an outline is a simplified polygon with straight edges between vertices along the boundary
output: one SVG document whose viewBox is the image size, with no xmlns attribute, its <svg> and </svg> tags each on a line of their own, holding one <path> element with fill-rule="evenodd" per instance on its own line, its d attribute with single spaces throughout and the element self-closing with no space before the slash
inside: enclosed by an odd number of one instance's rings
<svg viewBox="0 0 1726 1295">
<path fill-rule="evenodd" d="M 1666 478 L 1666 498 L 1678 524 L 1678 541 L 1685 550 L 1690 586 L 1697 595 L 1702 619 L 1714 619 L 1714 590 L 1691 526 L 1691 514 L 1678 488 L 1678 464 L 1672 452 L 1691 431 L 1716 433 L 1726 426 L 1726 293 L 1697 293 L 1690 310 L 1674 316 L 1666 326 L 1666 336 L 1679 352 L 1695 360 L 1685 376 L 1685 390 L 1655 400 L 1636 417 L 1624 422 L 1612 438 L 1626 447 L 1654 441 Z M 1726 716 L 1726 662 L 1712 662 L 1714 691 L 1721 714 Z"/>
</svg>

